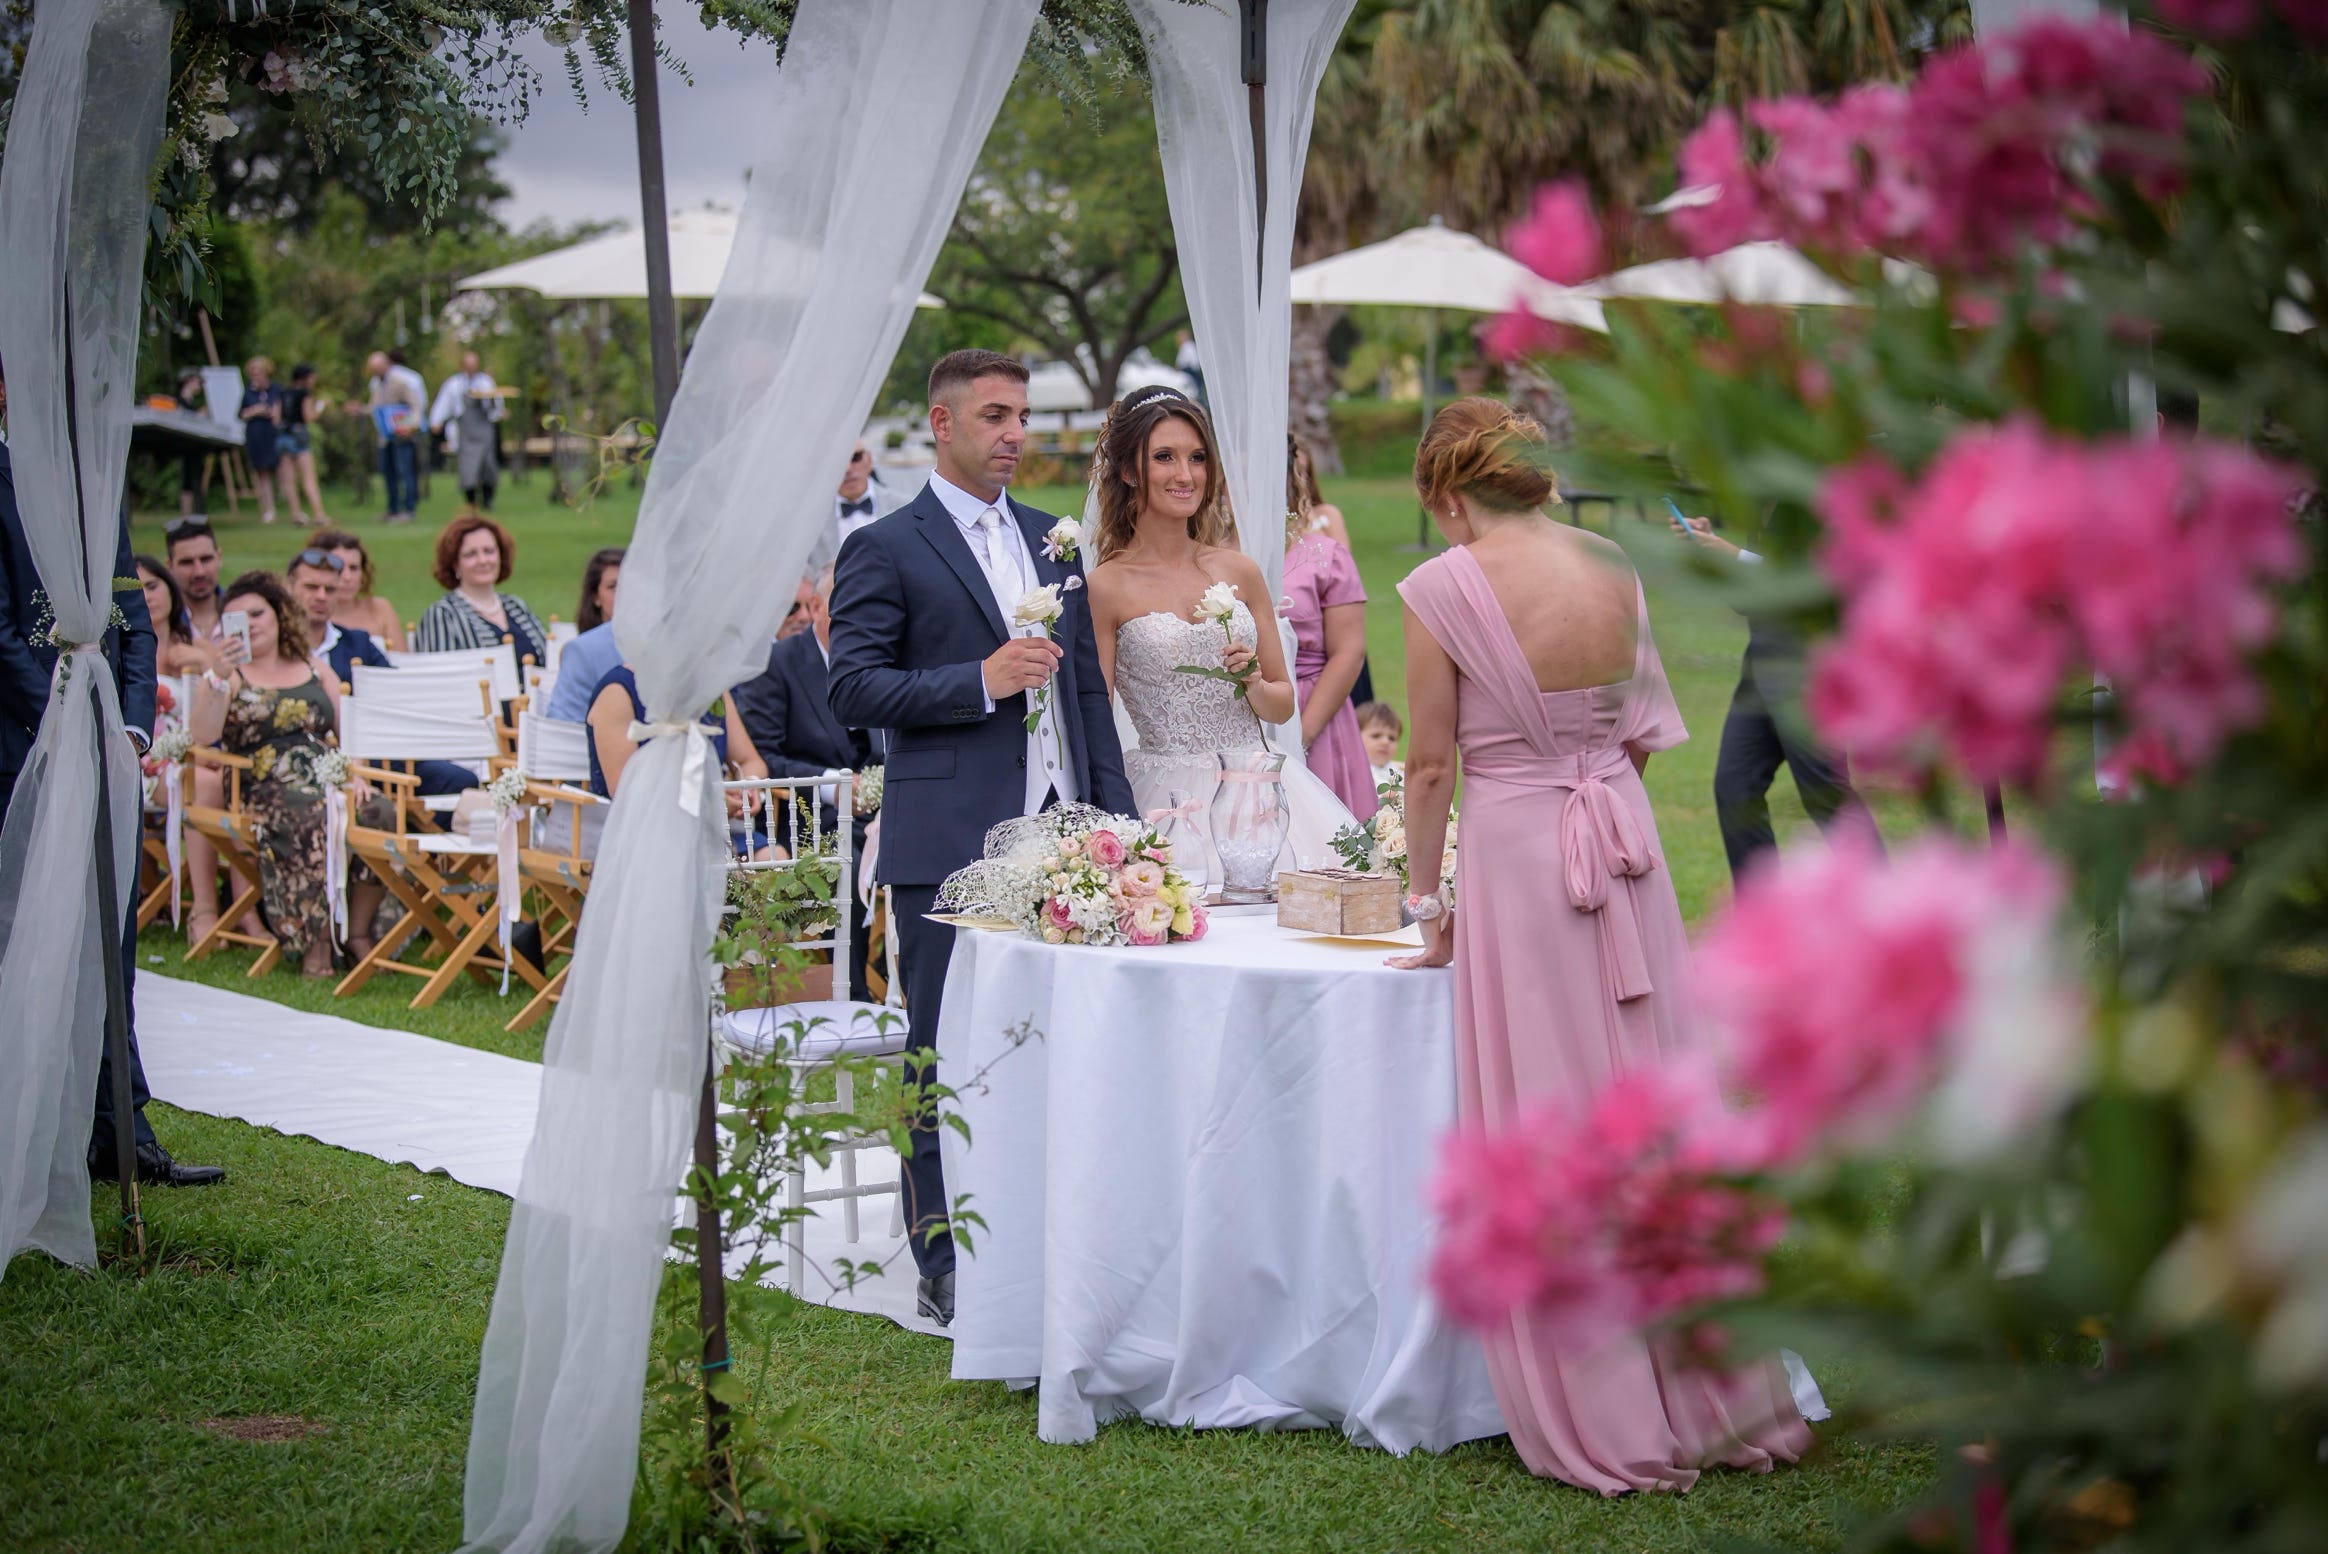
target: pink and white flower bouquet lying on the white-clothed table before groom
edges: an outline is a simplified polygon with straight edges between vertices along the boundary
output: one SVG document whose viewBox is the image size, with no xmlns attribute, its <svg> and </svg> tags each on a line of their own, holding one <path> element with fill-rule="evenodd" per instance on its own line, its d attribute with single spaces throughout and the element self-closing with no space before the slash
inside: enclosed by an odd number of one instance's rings
<svg viewBox="0 0 2328 1554">
<path fill-rule="evenodd" d="M 1045 944 L 1201 940 L 1204 903 L 1155 826 L 1059 805 L 987 833 L 978 863 L 938 886 L 938 910 L 1006 921 Z"/>
</svg>

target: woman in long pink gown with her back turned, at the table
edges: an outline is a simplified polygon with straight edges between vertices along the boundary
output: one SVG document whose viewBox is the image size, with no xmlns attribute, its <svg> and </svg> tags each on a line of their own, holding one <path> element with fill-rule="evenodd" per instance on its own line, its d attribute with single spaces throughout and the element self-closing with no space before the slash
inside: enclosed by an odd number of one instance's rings
<svg viewBox="0 0 2328 1554">
<path fill-rule="evenodd" d="M 1641 786 L 1648 754 L 1688 733 L 1623 551 L 1543 516 L 1541 451 L 1506 405 L 1443 409 L 1415 486 L 1455 549 L 1399 584 L 1415 882 L 1439 877 L 1457 751 L 1464 784 L 1462 910 L 1399 963 L 1455 965 L 1457 1126 L 1481 1131 L 1583 1107 L 1695 1042 L 1690 944 Z M 1704 1466 L 1767 1470 L 1811 1442 L 1776 1363 L 1716 1377 L 1658 1338 L 1574 1345 L 1527 1312 L 1485 1347 L 1520 1459 L 1581 1489 L 1688 1489 Z"/>
</svg>

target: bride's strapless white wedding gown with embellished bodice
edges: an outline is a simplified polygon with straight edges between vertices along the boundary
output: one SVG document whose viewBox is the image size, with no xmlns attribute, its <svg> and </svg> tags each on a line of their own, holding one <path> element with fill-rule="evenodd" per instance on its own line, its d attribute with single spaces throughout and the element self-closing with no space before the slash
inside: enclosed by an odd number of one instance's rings
<svg viewBox="0 0 2328 1554">
<path fill-rule="evenodd" d="M 1229 623 L 1238 644 L 1252 647 L 1259 633 L 1252 612 L 1236 605 Z M 1176 614 L 1143 614 L 1115 633 L 1115 705 L 1131 723 L 1124 742 L 1124 777 L 1141 814 L 1159 814 L 1178 803 L 1197 803 L 1197 826 L 1211 835 L 1211 803 L 1222 751 L 1264 749 L 1262 723 L 1252 707 L 1225 679 L 1180 675 L 1180 665 L 1220 663 L 1220 626 L 1183 621 Z M 1355 826 L 1350 807 L 1334 798 L 1301 761 L 1285 763 L 1285 800 L 1292 826 L 1285 833 L 1280 868 L 1325 868 L 1334 854 L 1334 833 Z M 1220 882 L 1220 863 L 1211 877 Z"/>
</svg>

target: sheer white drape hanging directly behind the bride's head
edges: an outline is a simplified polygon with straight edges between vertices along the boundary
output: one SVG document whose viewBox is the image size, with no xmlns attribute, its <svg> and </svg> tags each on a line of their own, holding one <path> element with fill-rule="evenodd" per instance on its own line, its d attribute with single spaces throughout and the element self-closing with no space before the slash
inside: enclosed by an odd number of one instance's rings
<svg viewBox="0 0 2328 1554">
<path fill-rule="evenodd" d="M 1157 151 L 1180 249 L 1204 388 L 1220 433 L 1236 537 L 1271 596 L 1285 577 L 1285 407 L 1292 361 L 1294 205 L 1318 81 L 1353 0 L 1271 0 L 1262 147 L 1266 209 L 1252 186 L 1252 107 L 1238 72 L 1236 0 L 1129 0 L 1148 44 Z M 1259 261 L 1259 270 L 1255 270 Z M 1271 744 L 1294 751 L 1297 723 Z"/>
</svg>

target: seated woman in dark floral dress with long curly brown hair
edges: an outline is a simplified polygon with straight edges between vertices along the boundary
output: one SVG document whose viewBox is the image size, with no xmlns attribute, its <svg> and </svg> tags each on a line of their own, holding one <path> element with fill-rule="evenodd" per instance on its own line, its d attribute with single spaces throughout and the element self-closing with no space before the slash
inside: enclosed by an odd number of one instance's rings
<svg viewBox="0 0 2328 1554">
<path fill-rule="evenodd" d="M 324 849 L 324 784 L 317 761 L 340 721 L 340 686 L 307 658 L 307 621 L 268 572 L 244 572 L 221 591 L 226 610 L 251 623 L 251 658 L 228 682 L 226 733 L 219 744 L 249 756 L 242 803 L 256 821 L 258 893 L 268 933 L 307 977 L 331 975 L 331 889 Z M 368 819 L 389 824 L 370 798 Z M 347 884 L 347 949 L 370 954 L 361 938 L 379 907 L 379 882 L 354 865 Z"/>
</svg>

